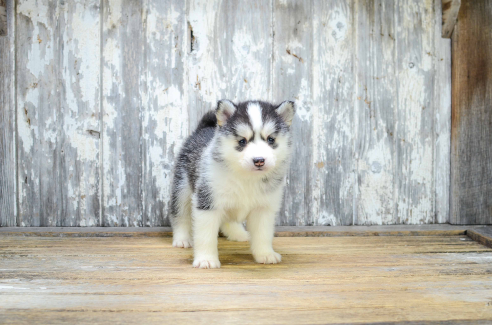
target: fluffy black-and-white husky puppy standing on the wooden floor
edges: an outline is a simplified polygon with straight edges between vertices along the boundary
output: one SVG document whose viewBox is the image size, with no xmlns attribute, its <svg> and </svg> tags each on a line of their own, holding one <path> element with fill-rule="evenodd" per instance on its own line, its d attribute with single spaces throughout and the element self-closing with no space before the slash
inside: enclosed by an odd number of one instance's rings
<svg viewBox="0 0 492 325">
<path fill-rule="evenodd" d="M 258 263 L 281 261 L 272 241 L 294 114 L 290 101 L 221 100 L 186 140 L 176 161 L 171 223 L 173 246 L 194 247 L 193 267 L 220 267 L 219 230 L 229 240 L 250 240 Z"/>
</svg>

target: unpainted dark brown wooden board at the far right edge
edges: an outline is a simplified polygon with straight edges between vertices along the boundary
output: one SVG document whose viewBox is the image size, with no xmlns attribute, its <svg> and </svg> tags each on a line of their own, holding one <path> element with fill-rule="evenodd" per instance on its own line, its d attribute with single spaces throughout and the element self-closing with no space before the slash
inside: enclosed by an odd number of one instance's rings
<svg viewBox="0 0 492 325">
<path fill-rule="evenodd" d="M 455 224 L 492 224 L 491 51 L 492 1 L 463 1 L 452 36 L 450 222 Z"/>
</svg>

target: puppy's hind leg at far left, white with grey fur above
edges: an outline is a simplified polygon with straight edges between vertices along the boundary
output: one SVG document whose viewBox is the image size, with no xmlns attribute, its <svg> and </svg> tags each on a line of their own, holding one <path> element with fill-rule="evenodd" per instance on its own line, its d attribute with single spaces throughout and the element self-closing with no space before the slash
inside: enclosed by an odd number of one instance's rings
<svg viewBox="0 0 492 325">
<path fill-rule="evenodd" d="M 173 247 L 190 248 L 191 235 L 191 189 L 185 186 L 173 192 L 171 199 L 171 224 L 173 226 Z"/>
</svg>

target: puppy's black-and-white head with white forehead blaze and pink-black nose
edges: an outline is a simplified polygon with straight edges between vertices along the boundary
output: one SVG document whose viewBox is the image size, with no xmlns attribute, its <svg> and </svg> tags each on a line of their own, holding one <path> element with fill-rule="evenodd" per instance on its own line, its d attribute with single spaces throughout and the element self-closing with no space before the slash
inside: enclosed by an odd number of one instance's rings
<svg viewBox="0 0 492 325">
<path fill-rule="evenodd" d="M 219 101 L 215 115 L 221 158 L 237 171 L 258 175 L 272 171 L 289 156 L 295 110 L 290 101 L 280 105 Z"/>
</svg>

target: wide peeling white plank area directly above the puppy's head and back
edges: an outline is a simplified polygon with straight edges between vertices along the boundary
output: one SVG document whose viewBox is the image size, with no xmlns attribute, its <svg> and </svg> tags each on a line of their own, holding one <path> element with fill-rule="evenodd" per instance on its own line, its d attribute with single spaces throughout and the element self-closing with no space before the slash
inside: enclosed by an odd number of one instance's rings
<svg viewBox="0 0 492 325">
<path fill-rule="evenodd" d="M 271 2 L 190 1 L 190 131 L 217 100 L 271 99 Z"/>
</svg>

